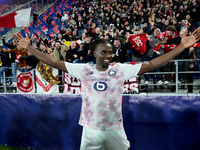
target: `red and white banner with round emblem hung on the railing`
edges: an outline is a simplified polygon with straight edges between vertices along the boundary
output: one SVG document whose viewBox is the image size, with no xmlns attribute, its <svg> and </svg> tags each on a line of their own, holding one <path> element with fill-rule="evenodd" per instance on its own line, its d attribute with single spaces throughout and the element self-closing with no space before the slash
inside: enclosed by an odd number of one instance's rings
<svg viewBox="0 0 200 150">
<path fill-rule="evenodd" d="M 29 72 L 17 70 L 17 93 L 35 93 L 33 70 Z"/>
</svg>

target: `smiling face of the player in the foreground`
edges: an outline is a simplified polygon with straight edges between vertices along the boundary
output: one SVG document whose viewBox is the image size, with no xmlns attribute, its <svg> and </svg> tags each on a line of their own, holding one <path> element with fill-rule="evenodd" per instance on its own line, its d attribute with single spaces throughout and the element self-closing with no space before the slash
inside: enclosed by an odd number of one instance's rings
<svg viewBox="0 0 200 150">
<path fill-rule="evenodd" d="M 99 71 L 108 69 L 112 60 L 112 46 L 110 44 L 99 44 L 94 51 L 96 57 L 96 68 Z"/>
</svg>

